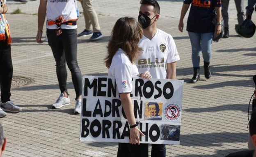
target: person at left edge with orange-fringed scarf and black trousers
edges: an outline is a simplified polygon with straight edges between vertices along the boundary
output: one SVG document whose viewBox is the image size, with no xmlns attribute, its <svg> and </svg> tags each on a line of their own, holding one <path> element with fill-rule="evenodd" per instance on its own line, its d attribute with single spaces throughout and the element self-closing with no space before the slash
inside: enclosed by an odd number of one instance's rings
<svg viewBox="0 0 256 157">
<path fill-rule="evenodd" d="M 8 112 L 18 113 L 22 111 L 14 102 L 10 100 L 11 97 L 11 79 L 13 73 L 11 61 L 11 36 L 8 21 L 5 13 L 7 12 L 7 5 L 5 0 L 0 0 L 0 87 L 1 87 L 1 102 L 0 102 L 0 118 L 5 117 Z"/>
</svg>

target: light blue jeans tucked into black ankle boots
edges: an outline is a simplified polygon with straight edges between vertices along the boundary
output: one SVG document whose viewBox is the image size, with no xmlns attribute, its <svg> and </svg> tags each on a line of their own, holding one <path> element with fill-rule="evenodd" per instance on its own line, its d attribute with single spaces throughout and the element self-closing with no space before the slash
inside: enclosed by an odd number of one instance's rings
<svg viewBox="0 0 256 157">
<path fill-rule="evenodd" d="M 188 32 L 188 35 L 189 35 L 191 46 L 192 46 L 193 67 L 200 66 L 201 51 L 203 54 L 203 61 L 210 62 L 213 32 L 211 33 Z"/>
</svg>

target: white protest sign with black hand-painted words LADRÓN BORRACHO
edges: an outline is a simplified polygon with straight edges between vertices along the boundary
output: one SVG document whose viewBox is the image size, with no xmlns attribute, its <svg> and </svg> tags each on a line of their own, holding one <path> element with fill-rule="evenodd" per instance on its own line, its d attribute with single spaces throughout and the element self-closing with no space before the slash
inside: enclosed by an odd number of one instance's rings
<svg viewBox="0 0 256 157">
<path fill-rule="evenodd" d="M 130 93 L 141 143 L 179 144 L 183 80 L 133 78 Z M 80 140 L 129 143 L 114 77 L 83 76 Z"/>
</svg>

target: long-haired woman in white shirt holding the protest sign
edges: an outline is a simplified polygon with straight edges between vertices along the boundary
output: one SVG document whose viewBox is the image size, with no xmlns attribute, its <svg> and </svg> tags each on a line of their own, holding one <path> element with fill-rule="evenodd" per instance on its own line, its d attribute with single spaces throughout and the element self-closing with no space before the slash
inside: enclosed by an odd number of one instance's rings
<svg viewBox="0 0 256 157">
<path fill-rule="evenodd" d="M 138 46 L 143 31 L 134 18 L 120 18 L 112 30 L 112 36 L 107 46 L 105 64 L 109 69 L 108 75 L 114 76 L 123 110 L 130 124 L 130 144 L 119 143 L 117 157 L 148 157 L 148 144 L 140 144 L 139 134 L 144 134 L 137 127 L 133 113 L 133 103 L 130 98 L 132 91 L 132 78 L 138 77 L 139 72 L 135 62 L 142 49 Z M 150 79 L 148 71 L 140 77 Z"/>
</svg>

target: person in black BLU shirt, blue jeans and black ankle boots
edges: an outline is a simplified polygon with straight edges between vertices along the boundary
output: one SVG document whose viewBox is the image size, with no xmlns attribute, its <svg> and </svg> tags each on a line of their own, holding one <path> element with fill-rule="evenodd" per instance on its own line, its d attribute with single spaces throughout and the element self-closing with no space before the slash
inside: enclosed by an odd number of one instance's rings
<svg viewBox="0 0 256 157">
<path fill-rule="evenodd" d="M 183 18 L 190 7 L 190 13 L 187 19 L 187 31 L 192 46 L 192 63 L 194 75 L 190 83 L 196 83 L 200 79 L 200 51 L 203 54 L 203 67 L 206 79 L 211 77 L 210 57 L 211 45 L 214 32 L 221 33 L 221 0 L 184 0 L 181 9 L 181 18 L 178 24 L 179 31 L 183 32 Z M 217 26 L 213 24 L 215 11 L 217 13 Z"/>
</svg>

